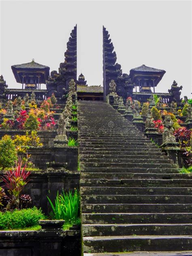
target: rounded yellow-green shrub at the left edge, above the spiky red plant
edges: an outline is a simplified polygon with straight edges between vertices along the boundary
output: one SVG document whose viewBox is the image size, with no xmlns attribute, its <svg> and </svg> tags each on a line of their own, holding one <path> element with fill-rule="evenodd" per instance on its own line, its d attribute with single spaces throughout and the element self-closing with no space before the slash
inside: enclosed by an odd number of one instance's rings
<svg viewBox="0 0 192 256">
<path fill-rule="evenodd" d="M 17 160 L 17 150 L 11 136 L 5 135 L 0 140 L 0 167 L 9 168 L 15 164 Z"/>
</svg>

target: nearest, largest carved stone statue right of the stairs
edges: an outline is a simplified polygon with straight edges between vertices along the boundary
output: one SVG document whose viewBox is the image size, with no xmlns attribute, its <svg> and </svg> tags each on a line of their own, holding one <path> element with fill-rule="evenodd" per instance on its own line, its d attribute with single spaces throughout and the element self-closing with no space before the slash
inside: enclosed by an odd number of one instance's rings
<svg viewBox="0 0 192 256">
<path fill-rule="evenodd" d="M 170 115 L 165 115 L 163 121 L 164 131 L 163 131 L 163 143 L 173 143 L 176 142 L 175 136 L 173 135 L 173 120 Z"/>
</svg>

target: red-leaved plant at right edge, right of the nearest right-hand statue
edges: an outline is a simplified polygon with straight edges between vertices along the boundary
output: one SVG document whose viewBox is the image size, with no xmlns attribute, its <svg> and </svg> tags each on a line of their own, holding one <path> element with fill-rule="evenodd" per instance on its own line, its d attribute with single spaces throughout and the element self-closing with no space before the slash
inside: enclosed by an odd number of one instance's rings
<svg viewBox="0 0 192 256">
<path fill-rule="evenodd" d="M 186 127 L 178 128 L 175 130 L 174 135 L 180 147 L 188 147 L 190 145 L 191 131 Z"/>
</svg>

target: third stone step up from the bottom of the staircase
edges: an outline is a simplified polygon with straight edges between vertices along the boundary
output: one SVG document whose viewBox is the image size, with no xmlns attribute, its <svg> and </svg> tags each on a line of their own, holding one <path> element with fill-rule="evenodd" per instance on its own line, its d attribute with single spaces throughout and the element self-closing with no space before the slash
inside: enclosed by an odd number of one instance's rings
<svg viewBox="0 0 192 256">
<path fill-rule="evenodd" d="M 192 213 L 82 213 L 83 224 L 192 224 Z"/>
</svg>

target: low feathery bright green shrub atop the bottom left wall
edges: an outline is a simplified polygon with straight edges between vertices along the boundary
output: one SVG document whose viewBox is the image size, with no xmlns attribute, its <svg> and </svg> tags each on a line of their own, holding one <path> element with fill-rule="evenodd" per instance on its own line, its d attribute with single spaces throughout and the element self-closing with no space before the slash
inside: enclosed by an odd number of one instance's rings
<svg viewBox="0 0 192 256">
<path fill-rule="evenodd" d="M 0 229 L 21 229 L 38 225 L 38 220 L 44 219 L 41 209 L 36 207 L 0 212 Z"/>
</svg>

